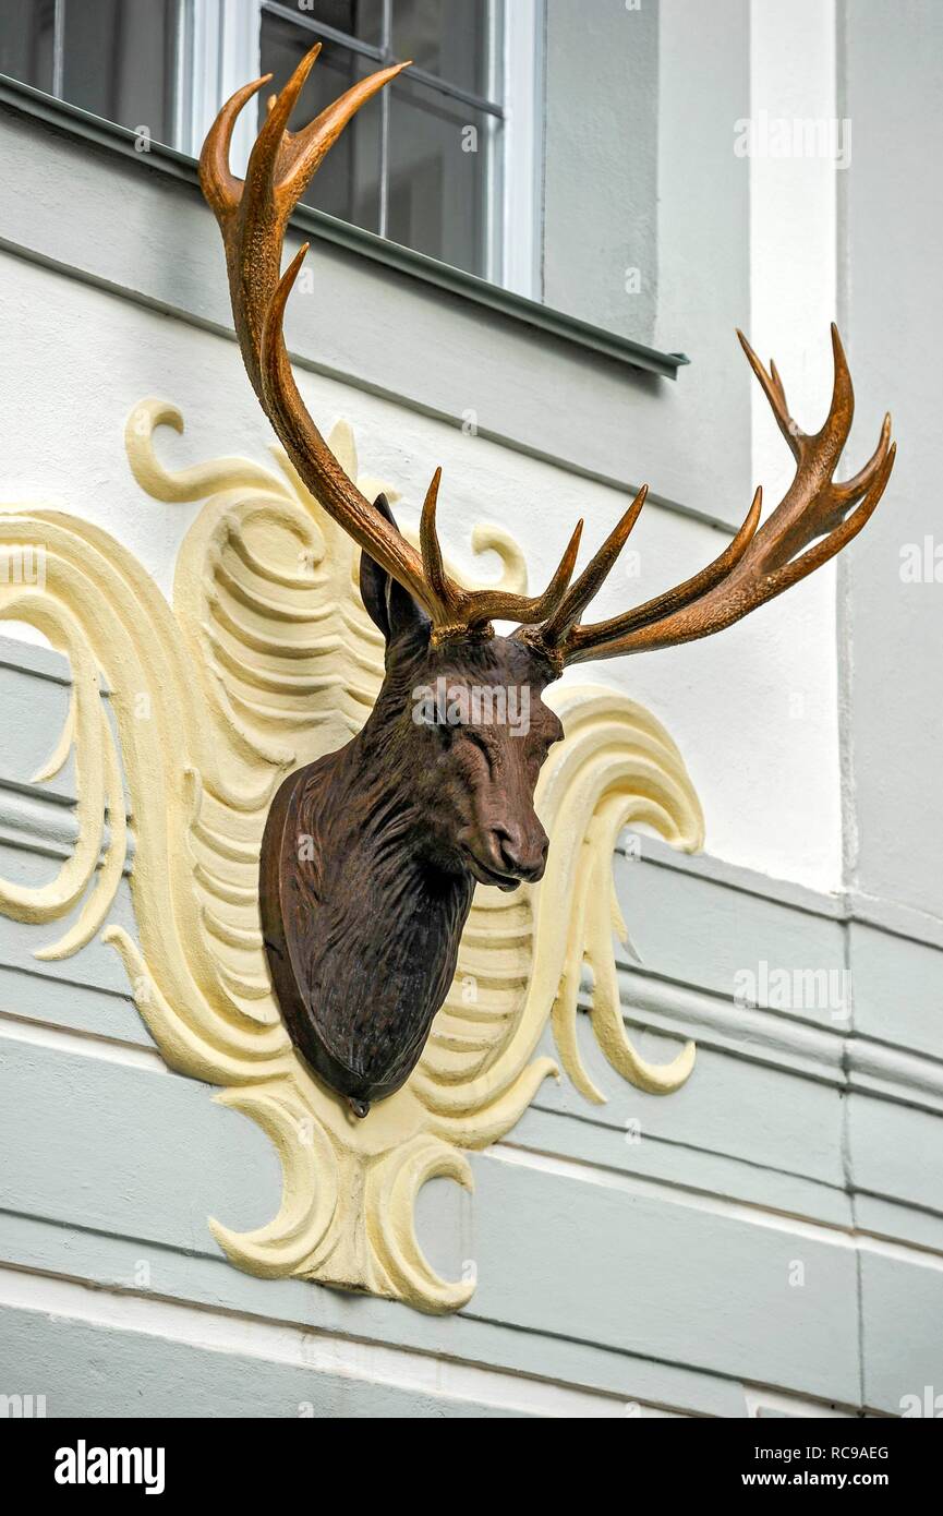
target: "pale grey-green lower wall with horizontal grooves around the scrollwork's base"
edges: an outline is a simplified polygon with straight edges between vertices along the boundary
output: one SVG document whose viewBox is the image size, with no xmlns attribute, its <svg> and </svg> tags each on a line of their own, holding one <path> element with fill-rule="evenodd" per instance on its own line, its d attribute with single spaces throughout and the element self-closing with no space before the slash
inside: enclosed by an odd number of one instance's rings
<svg viewBox="0 0 943 1516">
<path fill-rule="evenodd" d="M 0 641 L 0 872 L 21 882 L 70 846 L 68 776 L 52 799 L 29 784 L 62 678 Z M 694 1037 L 697 1067 L 640 1095 L 584 1022 L 608 1104 L 550 1081 L 473 1158 L 473 1199 L 421 1196 L 434 1264 L 478 1269 L 446 1319 L 230 1267 L 206 1217 L 274 1213 L 268 1142 L 164 1070 L 112 952 L 39 963 L 49 934 L 0 919 L 0 1393 L 45 1395 L 50 1416 L 893 1414 L 935 1383 L 938 999 L 894 1016 L 894 985 L 940 984 L 943 938 L 656 843 L 617 857 L 616 885 L 641 958 L 622 957 L 629 1032 L 655 1060 Z M 132 925 L 124 888 L 114 916 Z M 763 960 L 860 963 L 851 1022 L 735 1007 Z"/>
</svg>

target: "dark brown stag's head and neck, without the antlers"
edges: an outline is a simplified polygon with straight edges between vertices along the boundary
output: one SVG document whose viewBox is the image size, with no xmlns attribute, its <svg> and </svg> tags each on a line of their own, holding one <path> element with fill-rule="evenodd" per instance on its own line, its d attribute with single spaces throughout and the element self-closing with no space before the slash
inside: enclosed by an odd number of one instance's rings
<svg viewBox="0 0 943 1516">
<path fill-rule="evenodd" d="M 365 1114 L 423 1051 L 476 881 L 541 878 L 534 788 L 562 728 L 540 697 L 550 670 L 520 643 L 435 647 L 425 611 L 365 556 L 361 590 L 385 679 L 364 729 L 282 784 L 261 911 L 296 1048 Z"/>
</svg>

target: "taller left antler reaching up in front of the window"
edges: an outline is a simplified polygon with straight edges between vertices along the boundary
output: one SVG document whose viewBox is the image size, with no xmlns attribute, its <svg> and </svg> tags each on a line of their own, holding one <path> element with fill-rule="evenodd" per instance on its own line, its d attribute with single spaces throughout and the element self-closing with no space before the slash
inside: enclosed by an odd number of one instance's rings
<svg viewBox="0 0 943 1516">
<path fill-rule="evenodd" d="M 573 576 L 582 522 L 544 594 L 531 599 L 500 590 L 464 590 L 444 572 L 435 531 L 441 470 L 437 470 L 426 494 L 421 553 L 417 553 L 347 478 L 299 394 L 282 320 L 308 244 L 279 279 L 285 227 L 312 174 L 352 117 L 408 67 L 394 64 L 362 79 L 302 132 L 290 132 L 288 118 L 320 50 L 318 42 L 280 94 L 268 102 L 268 117 L 252 149 L 244 182 L 229 168 L 233 126 L 271 74 L 237 89 L 209 129 L 200 155 L 200 183 L 223 232 L 232 314 L 249 377 L 300 478 L 353 541 L 426 606 L 437 641 L 468 631 L 490 635 L 493 619 L 543 622 Z"/>
</svg>

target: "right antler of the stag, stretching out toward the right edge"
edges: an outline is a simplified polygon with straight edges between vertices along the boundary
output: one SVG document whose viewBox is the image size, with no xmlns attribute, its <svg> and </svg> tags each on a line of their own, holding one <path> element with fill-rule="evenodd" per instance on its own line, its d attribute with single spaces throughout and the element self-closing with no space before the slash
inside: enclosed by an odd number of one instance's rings
<svg viewBox="0 0 943 1516">
<path fill-rule="evenodd" d="M 890 415 L 884 418 L 878 447 L 864 468 L 844 484 L 832 479 L 855 408 L 838 329 L 832 324 L 832 400 L 822 429 L 814 435 L 802 432 L 793 421 L 776 365 L 772 362 L 767 374 L 743 332 L 737 335 L 796 459 L 791 485 L 760 529 L 763 491 L 757 490 L 729 547 L 691 579 L 623 615 L 579 626 L 579 612 L 596 594 L 635 525 L 644 496 L 641 491 L 549 620 L 517 634 L 556 669 L 590 658 L 672 647 L 731 626 L 834 558 L 858 535 L 884 494 L 896 452 L 890 443 Z"/>
</svg>

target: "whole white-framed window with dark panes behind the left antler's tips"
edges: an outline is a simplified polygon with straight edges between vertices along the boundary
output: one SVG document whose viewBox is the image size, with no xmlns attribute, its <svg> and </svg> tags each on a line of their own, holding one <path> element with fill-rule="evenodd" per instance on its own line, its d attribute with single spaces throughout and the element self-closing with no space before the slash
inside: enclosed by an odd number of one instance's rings
<svg viewBox="0 0 943 1516">
<path fill-rule="evenodd" d="M 258 73 L 284 80 L 315 41 L 323 50 L 302 120 L 364 74 L 411 58 L 347 127 L 306 203 L 532 294 L 537 6 L 0 0 L 0 73 L 196 156 L 232 89 Z M 237 170 L 256 126 L 247 120 L 233 141 Z"/>
</svg>

